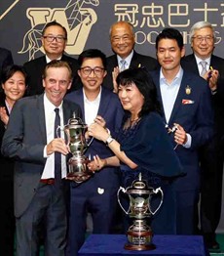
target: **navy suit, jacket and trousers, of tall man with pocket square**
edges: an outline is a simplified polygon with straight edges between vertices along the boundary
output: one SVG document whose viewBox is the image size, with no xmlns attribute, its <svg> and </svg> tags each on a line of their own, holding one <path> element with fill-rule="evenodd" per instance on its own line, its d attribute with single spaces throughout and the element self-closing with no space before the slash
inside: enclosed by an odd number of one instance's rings
<svg viewBox="0 0 224 256">
<path fill-rule="evenodd" d="M 158 89 L 158 98 L 163 106 L 160 90 L 160 70 L 151 72 Z M 186 88 L 190 88 L 189 91 Z M 189 94 L 188 94 L 189 93 Z M 183 100 L 190 100 L 183 104 Z M 164 121 L 167 123 L 165 114 Z M 192 137 L 190 149 L 178 146 L 175 150 L 183 166 L 186 176 L 174 181 L 174 191 L 178 210 L 176 214 L 176 234 L 192 235 L 194 233 L 194 210 L 197 206 L 200 190 L 200 166 L 198 158 L 199 147 L 205 145 L 213 134 L 213 113 L 210 104 L 210 92 L 205 80 L 199 76 L 184 71 L 181 85 L 168 120 L 168 126 L 180 124 L 186 133 Z M 175 143 L 173 138 L 170 137 Z"/>
</svg>

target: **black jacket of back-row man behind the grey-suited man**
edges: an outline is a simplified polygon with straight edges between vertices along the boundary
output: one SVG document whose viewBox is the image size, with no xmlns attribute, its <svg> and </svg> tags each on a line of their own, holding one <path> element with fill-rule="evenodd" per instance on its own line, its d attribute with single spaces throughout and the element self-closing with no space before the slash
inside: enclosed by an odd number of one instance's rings
<svg viewBox="0 0 224 256">
<path fill-rule="evenodd" d="M 73 82 L 71 86 L 72 89 L 70 90 L 78 89 L 80 86 L 77 84 L 77 81 L 78 81 L 77 60 L 69 56 L 62 55 L 61 61 L 67 62 L 72 69 Z M 42 84 L 42 74 L 46 64 L 47 64 L 46 56 L 39 57 L 35 60 L 32 60 L 30 62 L 23 64 L 25 72 L 27 73 L 27 82 L 28 82 L 27 95 L 28 96 L 42 94 L 44 92 L 44 87 Z"/>
</svg>

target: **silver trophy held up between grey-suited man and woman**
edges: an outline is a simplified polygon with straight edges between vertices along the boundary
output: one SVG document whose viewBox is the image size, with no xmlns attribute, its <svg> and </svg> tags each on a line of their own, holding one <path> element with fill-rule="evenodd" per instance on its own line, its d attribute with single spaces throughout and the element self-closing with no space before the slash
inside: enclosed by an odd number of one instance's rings
<svg viewBox="0 0 224 256">
<path fill-rule="evenodd" d="M 68 120 L 68 123 L 63 128 L 58 127 L 65 133 L 65 141 L 72 153 L 72 157 L 68 160 L 68 174 L 67 177 L 71 178 L 76 183 L 82 183 L 88 180 L 92 175 L 88 169 L 90 159 L 85 155 L 86 150 L 89 148 L 90 143 L 87 143 L 85 134 L 88 130 L 87 124 L 83 123 L 82 119 L 73 117 Z"/>
</svg>

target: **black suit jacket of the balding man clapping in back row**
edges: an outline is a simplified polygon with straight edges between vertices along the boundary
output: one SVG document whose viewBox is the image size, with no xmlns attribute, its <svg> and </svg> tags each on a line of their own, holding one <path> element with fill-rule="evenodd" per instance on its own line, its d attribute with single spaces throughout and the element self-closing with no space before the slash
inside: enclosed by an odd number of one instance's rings
<svg viewBox="0 0 224 256">
<path fill-rule="evenodd" d="M 103 86 L 107 87 L 111 91 L 113 91 L 113 78 L 112 78 L 112 72 L 114 70 L 114 67 L 118 66 L 118 59 L 117 55 L 112 55 L 108 57 L 107 59 L 107 75 L 104 78 Z M 144 56 L 136 53 L 133 51 L 133 56 L 131 59 L 130 67 L 146 67 L 149 71 L 154 70 L 156 67 L 158 67 L 158 62 L 156 59 L 150 57 L 150 56 Z"/>
</svg>

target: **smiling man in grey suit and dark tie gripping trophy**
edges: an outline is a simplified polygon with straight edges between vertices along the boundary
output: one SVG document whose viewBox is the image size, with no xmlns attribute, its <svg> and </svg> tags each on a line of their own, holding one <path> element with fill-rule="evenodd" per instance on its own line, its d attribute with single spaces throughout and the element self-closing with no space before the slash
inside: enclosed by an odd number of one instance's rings
<svg viewBox="0 0 224 256">
<path fill-rule="evenodd" d="M 15 215 L 17 255 L 37 255 L 39 226 L 45 224 L 45 255 L 64 256 L 66 244 L 67 146 L 56 138 L 56 121 L 67 123 L 80 107 L 63 101 L 71 86 L 70 66 L 61 61 L 47 64 L 43 74 L 45 93 L 19 100 L 3 137 L 2 153 L 15 163 Z"/>
</svg>

